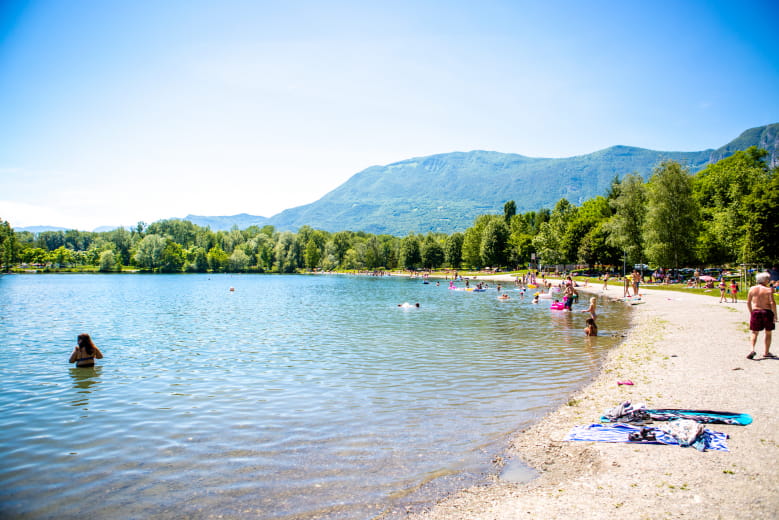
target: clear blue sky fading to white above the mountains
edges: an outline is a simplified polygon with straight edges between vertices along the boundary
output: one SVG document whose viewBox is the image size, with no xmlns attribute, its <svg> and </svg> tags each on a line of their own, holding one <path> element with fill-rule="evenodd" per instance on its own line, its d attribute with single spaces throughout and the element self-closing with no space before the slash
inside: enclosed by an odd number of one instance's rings
<svg viewBox="0 0 779 520">
<path fill-rule="evenodd" d="M 438 153 L 718 148 L 779 122 L 776 20 L 776 0 L 0 0 L 0 219 L 271 217 Z"/>
</svg>

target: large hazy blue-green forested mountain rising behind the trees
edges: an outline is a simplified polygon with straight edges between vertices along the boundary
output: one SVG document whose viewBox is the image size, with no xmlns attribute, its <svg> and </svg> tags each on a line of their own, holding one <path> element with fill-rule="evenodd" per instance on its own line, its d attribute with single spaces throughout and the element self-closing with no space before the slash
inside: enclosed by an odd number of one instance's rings
<svg viewBox="0 0 779 520">
<path fill-rule="evenodd" d="M 603 195 L 616 177 L 639 173 L 645 179 L 661 161 L 674 160 L 697 172 L 737 150 L 759 146 L 769 164 L 779 165 L 779 123 L 752 128 L 716 150 L 659 152 L 612 146 L 561 159 L 472 151 L 372 166 L 316 202 L 267 219 L 279 230 L 309 225 L 405 235 L 462 231 L 484 213 L 500 213 L 507 200 L 517 212 L 551 208 L 565 197 L 574 204 Z M 240 226 L 239 226 L 240 227 Z"/>
</svg>

